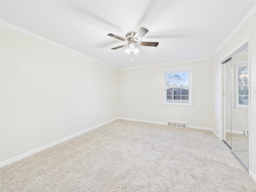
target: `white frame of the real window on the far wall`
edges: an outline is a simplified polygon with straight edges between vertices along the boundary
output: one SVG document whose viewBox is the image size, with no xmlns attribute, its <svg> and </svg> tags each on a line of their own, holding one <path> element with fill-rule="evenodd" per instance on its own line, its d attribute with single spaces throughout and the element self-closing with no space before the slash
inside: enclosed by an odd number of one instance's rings
<svg viewBox="0 0 256 192">
<path fill-rule="evenodd" d="M 188 72 L 188 103 L 166 102 L 166 74 Z M 163 106 L 188 106 L 193 107 L 193 67 L 166 69 L 163 71 Z"/>
</svg>

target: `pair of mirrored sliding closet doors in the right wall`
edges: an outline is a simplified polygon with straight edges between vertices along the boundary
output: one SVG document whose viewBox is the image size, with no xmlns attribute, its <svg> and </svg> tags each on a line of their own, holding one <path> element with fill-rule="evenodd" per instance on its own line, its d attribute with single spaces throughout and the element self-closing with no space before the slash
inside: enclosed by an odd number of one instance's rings
<svg viewBox="0 0 256 192">
<path fill-rule="evenodd" d="M 248 44 L 223 64 L 223 140 L 249 167 Z"/>
</svg>

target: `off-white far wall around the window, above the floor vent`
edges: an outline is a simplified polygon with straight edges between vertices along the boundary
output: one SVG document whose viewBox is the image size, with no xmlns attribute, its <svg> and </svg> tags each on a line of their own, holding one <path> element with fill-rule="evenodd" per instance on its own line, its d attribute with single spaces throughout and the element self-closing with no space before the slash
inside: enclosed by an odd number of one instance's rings
<svg viewBox="0 0 256 192">
<path fill-rule="evenodd" d="M 193 67 L 194 70 L 194 107 L 163 106 L 163 70 L 183 67 Z M 211 71 L 212 60 L 120 70 L 118 116 L 164 123 L 167 120 L 186 122 L 188 126 L 212 128 Z"/>
</svg>

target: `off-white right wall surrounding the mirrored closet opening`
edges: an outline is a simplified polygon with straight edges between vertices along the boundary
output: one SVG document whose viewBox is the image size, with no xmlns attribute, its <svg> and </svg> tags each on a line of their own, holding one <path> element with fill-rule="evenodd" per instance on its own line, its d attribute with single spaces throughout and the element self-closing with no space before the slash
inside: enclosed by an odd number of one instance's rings
<svg viewBox="0 0 256 192">
<path fill-rule="evenodd" d="M 256 16 L 254 15 L 245 26 L 218 52 L 213 58 L 213 90 L 214 116 L 213 128 L 219 133 L 220 125 L 220 62 L 234 50 L 241 42 L 250 37 L 250 88 L 256 90 Z M 237 47 L 238 48 L 238 47 Z M 250 175 L 256 181 L 256 97 L 250 92 Z M 220 133 L 219 133 L 220 134 Z"/>
</svg>

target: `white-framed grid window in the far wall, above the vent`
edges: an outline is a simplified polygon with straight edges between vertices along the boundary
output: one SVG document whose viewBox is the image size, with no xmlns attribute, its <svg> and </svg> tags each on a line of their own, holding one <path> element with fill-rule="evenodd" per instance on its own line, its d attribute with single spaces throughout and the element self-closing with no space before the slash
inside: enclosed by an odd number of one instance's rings
<svg viewBox="0 0 256 192">
<path fill-rule="evenodd" d="M 164 105 L 192 105 L 192 70 L 164 70 Z"/>
</svg>

